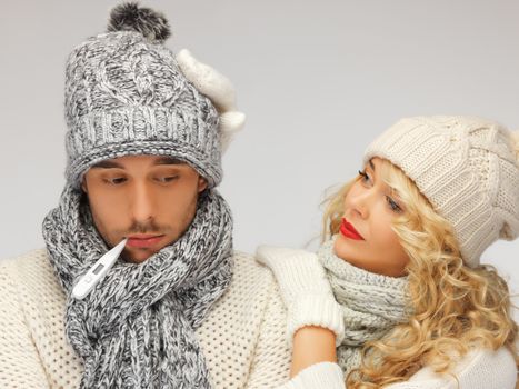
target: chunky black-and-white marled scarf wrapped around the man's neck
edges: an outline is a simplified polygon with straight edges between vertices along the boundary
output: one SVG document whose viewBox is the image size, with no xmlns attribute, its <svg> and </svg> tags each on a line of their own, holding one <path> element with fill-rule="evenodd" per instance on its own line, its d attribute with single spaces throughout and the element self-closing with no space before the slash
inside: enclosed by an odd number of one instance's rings
<svg viewBox="0 0 519 389">
<path fill-rule="evenodd" d="M 109 249 L 81 191 L 66 187 L 43 238 L 67 295 L 66 333 L 83 359 L 81 388 L 210 388 L 194 330 L 232 277 L 232 218 L 208 190 L 191 226 L 143 263 L 118 260 L 83 300 L 78 279 Z"/>
</svg>

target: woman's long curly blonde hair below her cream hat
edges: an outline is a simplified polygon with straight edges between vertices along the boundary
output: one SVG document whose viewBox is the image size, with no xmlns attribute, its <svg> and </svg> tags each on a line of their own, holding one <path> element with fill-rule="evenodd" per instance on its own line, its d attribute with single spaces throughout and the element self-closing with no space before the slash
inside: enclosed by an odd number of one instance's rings
<svg viewBox="0 0 519 389">
<path fill-rule="evenodd" d="M 449 221 L 438 215 L 399 168 L 381 160 L 381 177 L 399 192 L 406 212 L 393 230 L 409 256 L 412 316 L 386 337 L 365 345 L 362 363 L 347 377 L 348 388 L 380 388 L 406 381 L 425 366 L 449 372 L 470 347 L 508 348 L 519 366 L 507 282 L 492 266 L 463 263 Z M 322 240 L 339 232 L 343 202 L 360 176 L 326 200 Z"/>
</svg>

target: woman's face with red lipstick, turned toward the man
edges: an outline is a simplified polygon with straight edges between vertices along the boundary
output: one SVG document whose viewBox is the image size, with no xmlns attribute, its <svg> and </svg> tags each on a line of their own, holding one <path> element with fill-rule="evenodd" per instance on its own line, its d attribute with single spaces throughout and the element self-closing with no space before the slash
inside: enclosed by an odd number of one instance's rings
<svg viewBox="0 0 519 389">
<path fill-rule="evenodd" d="M 409 257 L 392 230 L 392 221 L 406 210 L 398 193 L 382 180 L 381 168 L 381 159 L 371 159 L 347 193 L 335 251 L 358 268 L 401 277 Z"/>
</svg>

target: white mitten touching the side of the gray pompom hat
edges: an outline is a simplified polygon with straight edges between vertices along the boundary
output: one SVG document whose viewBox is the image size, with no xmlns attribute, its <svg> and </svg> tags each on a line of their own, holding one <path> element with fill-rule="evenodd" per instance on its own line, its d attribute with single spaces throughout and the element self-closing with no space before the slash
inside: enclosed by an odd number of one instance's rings
<svg viewBox="0 0 519 389">
<path fill-rule="evenodd" d="M 221 149 L 224 152 L 246 121 L 244 113 L 236 108 L 234 87 L 227 77 L 198 61 L 187 49 L 178 52 L 177 62 L 186 78 L 211 100 L 220 113 Z"/>
</svg>

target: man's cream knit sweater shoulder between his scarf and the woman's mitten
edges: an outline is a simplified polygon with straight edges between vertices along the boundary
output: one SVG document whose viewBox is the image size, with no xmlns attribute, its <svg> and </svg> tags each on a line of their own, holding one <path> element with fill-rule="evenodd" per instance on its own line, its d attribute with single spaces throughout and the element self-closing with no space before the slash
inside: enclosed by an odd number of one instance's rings
<svg viewBox="0 0 519 389">
<path fill-rule="evenodd" d="M 258 377 L 283 370 L 285 377 L 287 370 L 288 377 L 285 307 L 276 280 L 252 255 L 236 251 L 233 260 L 229 288 L 197 330 L 216 387 L 243 387 L 251 371 Z"/>
</svg>

